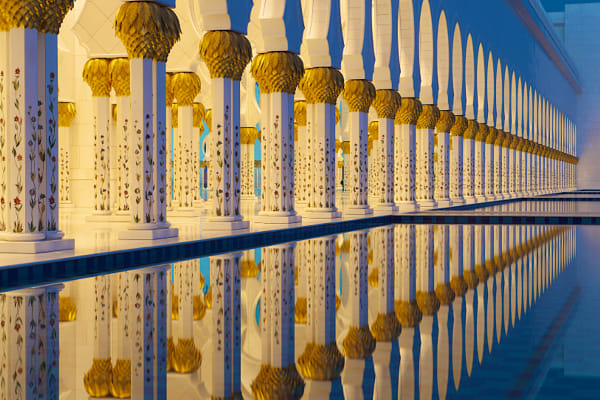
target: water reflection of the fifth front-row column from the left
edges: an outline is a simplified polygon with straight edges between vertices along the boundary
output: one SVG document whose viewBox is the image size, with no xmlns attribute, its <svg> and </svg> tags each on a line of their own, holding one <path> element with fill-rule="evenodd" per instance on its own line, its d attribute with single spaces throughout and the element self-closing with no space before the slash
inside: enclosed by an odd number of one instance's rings
<svg viewBox="0 0 600 400">
<path fill-rule="evenodd" d="M 306 379 L 307 399 L 329 396 L 331 381 L 344 369 L 335 342 L 335 240 L 328 236 L 306 243 L 307 343 L 297 366 Z"/>
</svg>

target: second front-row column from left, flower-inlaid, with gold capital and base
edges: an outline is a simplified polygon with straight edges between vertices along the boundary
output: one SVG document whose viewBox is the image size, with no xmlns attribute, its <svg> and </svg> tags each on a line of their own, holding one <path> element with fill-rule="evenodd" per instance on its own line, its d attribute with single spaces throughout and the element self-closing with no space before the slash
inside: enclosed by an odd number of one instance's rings
<svg viewBox="0 0 600 400">
<path fill-rule="evenodd" d="M 132 14 L 138 13 L 135 25 Z M 125 2 L 115 18 L 115 31 L 129 55 L 131 77 L 131 223 L 120 239 L 153 240 L 174 237 L 167 222 L 167 141 L 165 62 L 179 39 L 178 30 L 148 29 L 160 15 L 177 25 L 177 16 L 154 2 Z M 127 16 L 127 17 L 126 17 Z M 141 46 L 141 43 L 148 45 Z M 160 42 L 162 46 L 151 46 Z"/>
</svg>

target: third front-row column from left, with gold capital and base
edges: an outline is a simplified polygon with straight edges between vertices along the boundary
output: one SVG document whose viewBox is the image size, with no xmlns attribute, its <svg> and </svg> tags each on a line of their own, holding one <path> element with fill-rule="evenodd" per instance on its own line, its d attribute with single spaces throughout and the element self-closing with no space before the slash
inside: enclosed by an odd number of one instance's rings
<svg viewBox="0 0 600 400">
<path fill-rule="evenodd" d="M 214 204 L 204 227 L 220 231 L 246 229 L 249 223 L 240 214 L 240 79 L 252 57 L 252 48 L 241 33 L 209 31 L 200 42 L 200 57 L 212 81 L 214 135 L 210 150 Z"/>
</svg>

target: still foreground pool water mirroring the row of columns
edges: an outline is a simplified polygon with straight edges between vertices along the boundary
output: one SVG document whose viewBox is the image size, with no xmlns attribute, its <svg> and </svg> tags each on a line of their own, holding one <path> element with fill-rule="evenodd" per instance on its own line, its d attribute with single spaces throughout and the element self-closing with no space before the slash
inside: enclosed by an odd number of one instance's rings
<svg viewBox="0 0 600 400">
<path fill-rule="evenodd" d="M 4 292 L 0 399 L 600 398 L 599 233 L 390 225 Z"/>
</svg>

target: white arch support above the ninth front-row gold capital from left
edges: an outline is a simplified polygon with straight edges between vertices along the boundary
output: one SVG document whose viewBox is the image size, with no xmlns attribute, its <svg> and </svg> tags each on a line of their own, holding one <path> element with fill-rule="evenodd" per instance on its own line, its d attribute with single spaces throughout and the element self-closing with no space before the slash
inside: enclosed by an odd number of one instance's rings
<svg viewBox="0 0 600 400">
<path fill-rule="evenodd" d="M 434 104 L 433 98 L 433 25 L 429 0 L 423 0 L 419 22 L 419 69 L 423 104 Z"/>
</svg>

